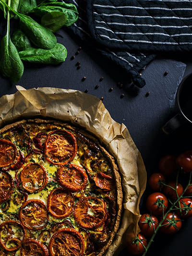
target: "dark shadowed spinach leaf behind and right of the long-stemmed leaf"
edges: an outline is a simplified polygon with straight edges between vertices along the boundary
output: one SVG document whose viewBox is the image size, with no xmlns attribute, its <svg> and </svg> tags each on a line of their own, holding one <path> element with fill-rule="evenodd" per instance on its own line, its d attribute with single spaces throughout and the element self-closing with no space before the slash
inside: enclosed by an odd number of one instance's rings
<svg viewBox="0 0 192 256">
<path fill-rule="evenodd" d="M 53 33 L 58 31 L 67 22 L 67 15 L 63 12 L 48 12 L 41 18 L 41 24 Z"/>
</svg>

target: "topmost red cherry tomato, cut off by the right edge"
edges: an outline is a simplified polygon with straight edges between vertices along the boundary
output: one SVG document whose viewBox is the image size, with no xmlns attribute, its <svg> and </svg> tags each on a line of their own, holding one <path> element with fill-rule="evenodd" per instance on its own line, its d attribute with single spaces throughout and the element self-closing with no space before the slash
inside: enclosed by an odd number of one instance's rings
<svg viewBox="0 0 192 256">
<path fill-rule="evenodd" d="M 177 158 L 177 164 L 184 172 L 192 171 L 192 150 L 185 151 Z"/>
</svg>

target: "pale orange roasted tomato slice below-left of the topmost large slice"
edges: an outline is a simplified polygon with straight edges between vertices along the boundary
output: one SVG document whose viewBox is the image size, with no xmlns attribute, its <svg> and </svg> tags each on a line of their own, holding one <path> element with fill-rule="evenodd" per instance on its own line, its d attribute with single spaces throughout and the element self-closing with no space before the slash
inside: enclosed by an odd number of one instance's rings
<svg viewBox="0 0 192 256">
<path fill-rule="evenodd" d="M 44 189 L 48 182 L 46 170 L 40 164 L 30 163 L 20 173 L 22 186 L 31 193 L 37 193 Z"/>
</svg>

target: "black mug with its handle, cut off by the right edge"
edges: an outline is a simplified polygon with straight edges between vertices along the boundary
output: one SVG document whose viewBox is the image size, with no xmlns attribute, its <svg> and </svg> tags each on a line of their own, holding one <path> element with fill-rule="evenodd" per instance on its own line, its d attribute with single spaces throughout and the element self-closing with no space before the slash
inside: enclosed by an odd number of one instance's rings
<svg viewBox="0 0 192 256">
<path fill-rule="evenodd" d="M 192 74 L 186 76 L 178 87 L 176 108 L 178 113 L 162 128 L 165 134 L 173 133 L 183 124 L 192 124 Z"/>
</svg>

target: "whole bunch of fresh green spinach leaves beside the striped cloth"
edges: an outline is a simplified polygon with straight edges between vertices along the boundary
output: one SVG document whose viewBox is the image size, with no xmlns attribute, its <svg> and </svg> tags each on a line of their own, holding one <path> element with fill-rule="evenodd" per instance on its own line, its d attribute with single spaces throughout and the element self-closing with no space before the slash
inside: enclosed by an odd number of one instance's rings
<svg viewBox="0 0 192 256">
<path fill-rule="evenodd" d="M 24 72 L 22 61 L 58 64 L 65 61 L 67 49 L 57 43 L 53 33 L 63 25 L 76 22 L 78 12 L 73 4 L 57 0 L 0 0 L 7 19 L 7 33 L 0 44 L 0 72 L 18 82 Z M 41 24 L 29 14 L 41 18 Z M 20 28 L 10 37 L 10 19 L 19 19 Z"/>
</svg>

